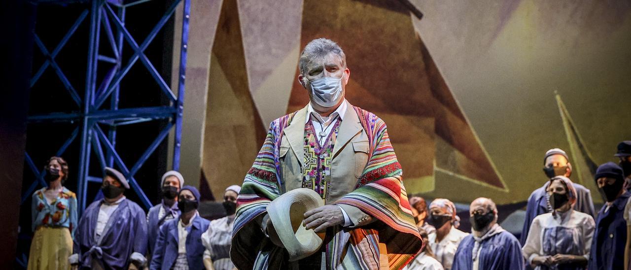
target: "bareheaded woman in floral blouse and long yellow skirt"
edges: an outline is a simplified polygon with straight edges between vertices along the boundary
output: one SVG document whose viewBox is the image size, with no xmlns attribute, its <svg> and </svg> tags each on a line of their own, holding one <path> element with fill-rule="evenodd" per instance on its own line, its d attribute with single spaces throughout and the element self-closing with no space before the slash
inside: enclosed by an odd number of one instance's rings
<svg viewBox="0 0 631 270">
<path fill-rule="evenodd" d="M 73 235 L 77 227 L 77 197 L 63 186 L 68 163 L 53 156 L 45 167 L 47 187 L 33 193 L 33 242 L 28 269 L 69 269 Z"/>
</svg>

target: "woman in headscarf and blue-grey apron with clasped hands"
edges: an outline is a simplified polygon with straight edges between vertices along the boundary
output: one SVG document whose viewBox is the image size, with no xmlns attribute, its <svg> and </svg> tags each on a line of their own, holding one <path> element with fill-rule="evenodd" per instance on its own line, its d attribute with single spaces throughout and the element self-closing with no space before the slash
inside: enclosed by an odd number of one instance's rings
<svg viewBox="0 0 631 270">
<path fill-rule="evenodd" d="M 522 248 L 524 257 L 535 270 L 585 269 L 594 218 L 572 209 L 577 194 L 567 177 L 550 179 L 547 192 L 552 212 L 534 218 Z"/>
</svg>

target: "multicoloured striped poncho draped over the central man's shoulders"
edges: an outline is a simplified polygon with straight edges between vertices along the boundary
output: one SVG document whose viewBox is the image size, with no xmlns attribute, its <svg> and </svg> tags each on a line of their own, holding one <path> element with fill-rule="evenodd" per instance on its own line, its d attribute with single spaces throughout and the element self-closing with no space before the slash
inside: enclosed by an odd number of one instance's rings
<svg viewBox="0 0 631 270">
<path fill-rule="evenodd" d="M 326 269 L 377 269 L 380 250 L 381 255 L 387 253 L 390 269 L 401 269 L 423 245 L 403 186 L 401 165 L 392 149 L 386 123 L 359 107 L 353 109 L 369 138 L 369 158 L 355 190 L 334 203 L 355 206 L 377 221 L 358 228 L 339 225 L 327 228 L 323 244 Z M 286 252 L 269 242 L 255 220 L 281 194 L 284 179 L 280 172 L 280 144 L 283 129 L 295 114 L 270 124 L 261 151 L 245 175 L 237 200 L 230 250 L 230 257 L 239 269 L 288 267 Z"/>
</svg>

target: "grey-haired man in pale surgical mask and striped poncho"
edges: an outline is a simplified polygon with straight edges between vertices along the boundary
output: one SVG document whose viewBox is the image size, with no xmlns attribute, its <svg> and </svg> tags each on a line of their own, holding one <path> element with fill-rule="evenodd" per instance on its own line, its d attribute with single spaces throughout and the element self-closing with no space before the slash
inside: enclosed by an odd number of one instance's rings
<svg viewBox="0 0 631 270">
<path fill-rule="evenodd" d="M 237 199 L 232 261 L 239 269 L 400 269 L 422 240 L 386 124 L 346 101 L 350 69 L 335 42 L 309 42 L 299 69 L 310 102 L 270 124 Z M 289 262 L 283 247 L 269 240 L 274 229 L 266 206 L 301 187 L 324 201 L 302 223 L 324 233 L 324 243 Z"/>
</svg>

